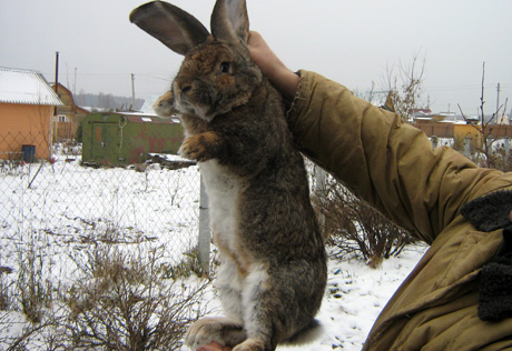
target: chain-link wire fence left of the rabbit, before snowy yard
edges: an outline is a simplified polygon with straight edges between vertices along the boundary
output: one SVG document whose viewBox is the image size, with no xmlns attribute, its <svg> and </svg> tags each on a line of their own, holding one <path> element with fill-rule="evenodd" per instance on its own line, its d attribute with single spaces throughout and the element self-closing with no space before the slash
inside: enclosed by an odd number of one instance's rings
<svg viewBox="0 0 512 351">
<path fill-rule="evenodd" d="M 0 267 L 35 242 L 56 259 L 85 245 L 147 242 L 165 245 L 173 263 L 197 244 L 197 166 L 156 154 L 139 164 L 83 166 L 76 143 L 38 159 L 20 148 L 27 140 L 0 136 Z"/>
</svg>

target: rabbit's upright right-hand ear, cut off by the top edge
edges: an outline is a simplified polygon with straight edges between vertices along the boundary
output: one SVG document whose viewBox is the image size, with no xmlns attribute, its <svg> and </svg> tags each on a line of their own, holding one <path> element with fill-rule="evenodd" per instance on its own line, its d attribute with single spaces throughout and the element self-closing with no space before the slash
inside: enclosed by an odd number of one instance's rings
<svg viewBox="0 0 512 351">
<path fill-rule="evenodd" d="M 247 43 L 249 18 L 245 0 L 217 0 L 211 13 L 211 34 L 230 43 Z"/>
</svg>

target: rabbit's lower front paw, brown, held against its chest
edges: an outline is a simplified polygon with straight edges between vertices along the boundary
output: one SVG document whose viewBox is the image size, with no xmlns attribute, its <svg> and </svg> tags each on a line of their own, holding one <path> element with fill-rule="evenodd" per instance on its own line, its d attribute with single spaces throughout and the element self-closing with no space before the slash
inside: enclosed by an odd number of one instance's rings
<svg viewBox="0 0 512 351">
<path fill-rule="evenodd" d="M 215 158 L 220 144 L 220 138 L 216 132 L 208 131 L 189 137 L 184 140 L 179 148 L 179 154 L 189 160 L 198 162 Z"/>
</svg>

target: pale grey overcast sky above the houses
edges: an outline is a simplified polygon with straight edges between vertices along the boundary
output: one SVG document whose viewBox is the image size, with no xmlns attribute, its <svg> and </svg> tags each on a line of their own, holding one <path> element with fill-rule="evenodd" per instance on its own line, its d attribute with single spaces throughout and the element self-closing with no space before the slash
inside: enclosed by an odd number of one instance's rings
<svg viewBox="0 0 512 351">
<path fill-rule="evenodd" d="M 41 71 L 77 92 L 137 98 L 168 89 L 181 57 L 128 20 L 138 0 L 0 0 L 0 67 Z M 206 27 L 213 0 L 175 0 Z M 349 89 L 384 86 L 391 67 L 425 59 L 423 101 L 475 114 L 485 62 L 486 112 L 512 98 L 510 0 L 247 0 L 250 27 L 293 70 Z M 506 110 L 512 108 L 512 101 Z"/>
</svg>

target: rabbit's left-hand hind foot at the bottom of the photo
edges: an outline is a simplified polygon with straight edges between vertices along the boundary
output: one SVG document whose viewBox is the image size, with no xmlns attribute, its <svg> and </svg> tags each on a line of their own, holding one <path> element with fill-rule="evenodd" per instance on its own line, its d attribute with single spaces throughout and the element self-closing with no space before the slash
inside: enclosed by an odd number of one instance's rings
<svg viewBox="0 0 512 351">
<path fill-rule="evenodd" d="M 216 341 L 224 345 L 236 345 L 245 339 L 240 323 L 227 318 L 203 318 L 196 321 L 185 335 L 186 344 L 191 349 Z"/>
</svg>

